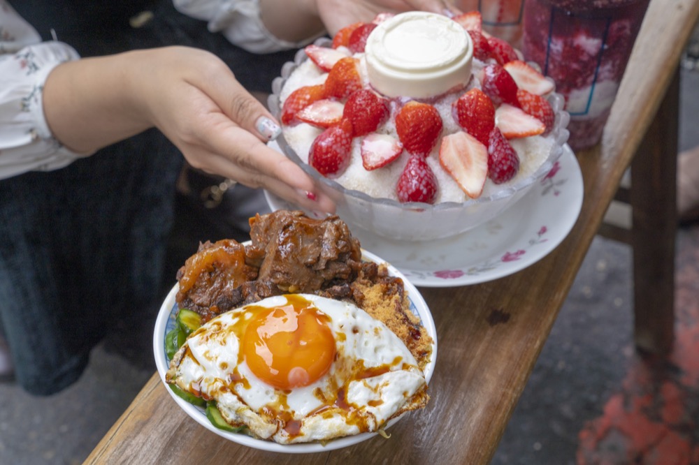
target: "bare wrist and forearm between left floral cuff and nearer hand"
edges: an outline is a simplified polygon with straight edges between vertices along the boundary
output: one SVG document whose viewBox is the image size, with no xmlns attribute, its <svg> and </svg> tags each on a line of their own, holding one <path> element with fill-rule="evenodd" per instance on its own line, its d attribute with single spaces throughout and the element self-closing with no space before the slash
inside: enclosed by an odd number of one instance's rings
<svg viewBox="0 0 699 465">
<path fill-rule="evenodd" d="M 142 52 L 70 61 L 48 76 L 43 110 L 55 138 L 90 153 L 152 126 L 134 88 L 147 63 Z"/>
</svg>

